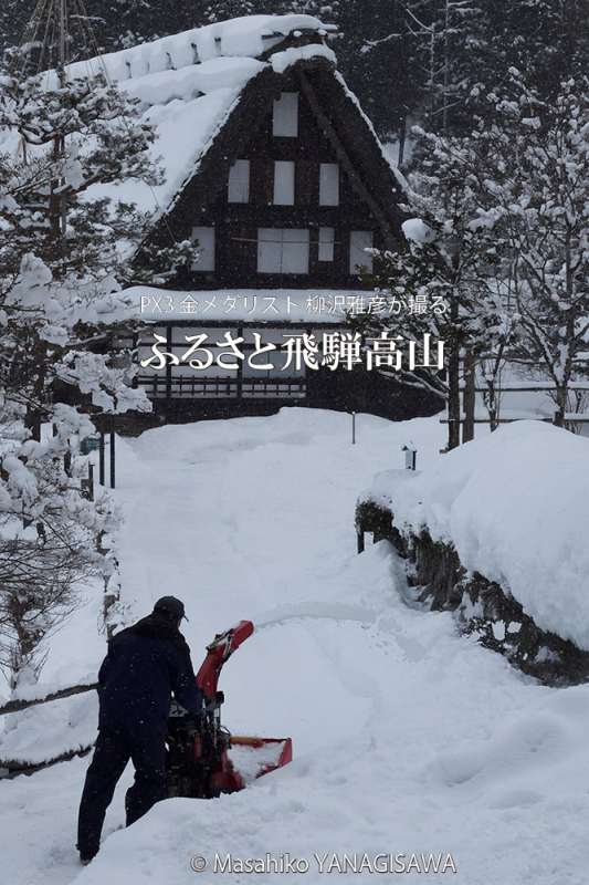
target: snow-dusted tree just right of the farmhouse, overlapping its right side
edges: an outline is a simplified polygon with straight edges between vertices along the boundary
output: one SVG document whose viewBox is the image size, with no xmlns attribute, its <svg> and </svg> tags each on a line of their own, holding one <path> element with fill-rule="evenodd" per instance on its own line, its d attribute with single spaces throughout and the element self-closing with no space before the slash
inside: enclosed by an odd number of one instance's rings
<svg viewBox="0 0 589 885">
<path fill-rule="evenodd" d="M 407 247 L 377 253 L 376 283 L 403 304 L 393 317 L 365 316 L 364 331 L 443 342 L 445 378 L 435 368 L 402 379 L 442 394 L 448 402 L 448 447 L 461 441 L 461 354 L 475 356 L 513 337 L 506 290 L 497 285 L 496 235 L 481 222 L 476 139 L 419 133 L 419 171 L 410 176 Z M 419 305 L 422 305 L 421 309 Z"/>
</svg>

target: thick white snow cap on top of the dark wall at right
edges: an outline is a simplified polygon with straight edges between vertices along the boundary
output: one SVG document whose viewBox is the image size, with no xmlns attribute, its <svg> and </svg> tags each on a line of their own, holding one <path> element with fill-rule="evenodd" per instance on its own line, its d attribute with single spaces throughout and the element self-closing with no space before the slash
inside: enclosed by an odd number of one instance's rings
<svg viewBox="0 0 589 885">
<path fill-rule="evenodd" d="M 538 627 L 589 650 L 588 464 L 587 439 L 517 421 L 412 481 L 377 478 L 370 497 L 388 502 L 401 531 L 453 544 Z"/>
</svg>

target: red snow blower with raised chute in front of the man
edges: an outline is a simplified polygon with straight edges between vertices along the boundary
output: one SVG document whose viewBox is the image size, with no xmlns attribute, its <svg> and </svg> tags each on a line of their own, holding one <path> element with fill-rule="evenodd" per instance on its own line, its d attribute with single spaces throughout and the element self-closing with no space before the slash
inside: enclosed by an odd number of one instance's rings
<svg viewBox="0 0 589 885">
<path fill-rule="evenodd" d="M 236 737 L 221 725 L 221 669 L 253 631 L 251 621 L 240 621 L 207 646 L 207 657 L 197 674 L 197 685 L 204 695 L 204 712 L 199 720 L 172 704 L 167 738 L 168 796 L 213 799 L 234 793 L 292 761 L 291 738 Z"/>
</svg>

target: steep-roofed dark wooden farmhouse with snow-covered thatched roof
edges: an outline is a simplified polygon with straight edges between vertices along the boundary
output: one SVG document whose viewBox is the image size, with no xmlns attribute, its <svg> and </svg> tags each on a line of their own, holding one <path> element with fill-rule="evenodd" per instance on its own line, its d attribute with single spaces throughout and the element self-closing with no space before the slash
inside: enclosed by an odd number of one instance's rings
<svg viewBox="0 0 589 885">
<path fill-rule="evenodd" d="M 154 404 L 147 420 L 267 414 L 283 405 L 406 419 L 443 405 L 378 372 L 285 367 L 277 346 L 288 335 L 320 341 L 345 329 L 346 313 L 374 295 L 359 275 L 371 269 L 367 250 L 395 250 L 403 236 L 402 177 L 337 70 L 335 31 L 312 15 L 252 15 L 67 69 L 73 76 L 103 71 L 155 127 L 150 152 L 164 184 L 97 188 L 154 214 L 136 263 L 145 270 L 150 251 L 183 240 L 200 250 L 166 288 L 124 293 L 145 320 L 133 342 L 138 361 L 149 361 L 156 335 L 177 357 L 139 369 Z M 276 343 L 264 354 L 272 367 L 243 361 L 238 371 L 217 363 L 196 371 L 182 361 L 187 339 L 206 334 L 217 355 L 211 342 L 228 332 L 243 339 L 245 354 L 256 340 Z"/>
</svg>

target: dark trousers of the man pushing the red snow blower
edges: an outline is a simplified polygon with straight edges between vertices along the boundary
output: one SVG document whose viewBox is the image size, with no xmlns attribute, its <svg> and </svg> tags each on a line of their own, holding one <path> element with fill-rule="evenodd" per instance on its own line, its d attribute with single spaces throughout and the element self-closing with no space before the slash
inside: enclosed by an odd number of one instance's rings
<svg viewBox="0 0 589 885">
<path fill-rule="evenodd" d="M 127 826 L 166 798 L 166 732 L 137 725 L 135 728 L 102 728 L 94 757 L 86 773 L 77 822 L 77 848 L 94 856 L 115 787 L 129 759 L 135 766 L 135 783 L 127 790 Z"/>
</svg>

